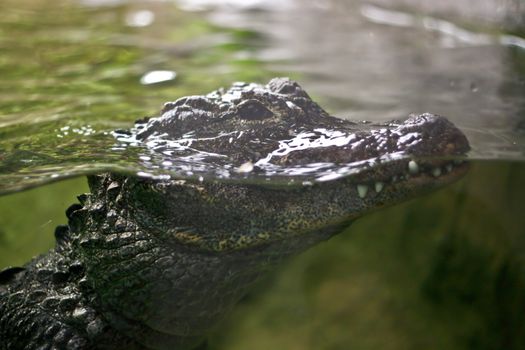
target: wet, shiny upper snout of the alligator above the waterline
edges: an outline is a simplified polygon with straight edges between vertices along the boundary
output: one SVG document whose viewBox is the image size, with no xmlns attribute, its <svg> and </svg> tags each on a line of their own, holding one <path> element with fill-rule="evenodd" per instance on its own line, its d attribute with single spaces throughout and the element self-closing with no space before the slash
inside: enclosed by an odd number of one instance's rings
<svg viewBox="0 0 525 350">
<path fill-rule="evenodd" d="M 315 129 L 281 142 L 268 160 L 284 166 L 312 162 L 384 163 L 405 157 L 456 158 L 470 148 L 465 135 L 450 121 L 428 113 L 410 116 L 404 122 L 343 126 Z"/>
</svg>

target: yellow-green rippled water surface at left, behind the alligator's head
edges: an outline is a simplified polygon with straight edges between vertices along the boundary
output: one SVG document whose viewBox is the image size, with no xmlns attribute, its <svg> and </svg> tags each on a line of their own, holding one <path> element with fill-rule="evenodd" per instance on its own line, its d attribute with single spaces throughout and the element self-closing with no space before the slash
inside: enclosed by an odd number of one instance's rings
<svg viewBox="0 0 525 350">
<path fill-rule="evenodd" d="M 164 101 L 273 75 L 238 57 L 249 31 L 217 28 L 172 3 L 0 6 L 0 30 L 9 33 L 0 37 L 0 192 L 104 169 L 136 172 L 136 157 L 112 150 L 110 131 Z M 130 27 L 131 19 L 142 22 Z"/>
</svg>

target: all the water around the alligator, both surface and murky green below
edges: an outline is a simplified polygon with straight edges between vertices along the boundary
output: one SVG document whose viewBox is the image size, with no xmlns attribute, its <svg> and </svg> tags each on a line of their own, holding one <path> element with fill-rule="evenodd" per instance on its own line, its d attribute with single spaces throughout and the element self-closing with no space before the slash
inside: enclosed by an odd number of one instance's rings
<svg viewBox="0 0 525 350">
<path fill-rule="evenodd" d="M 3 0 L 0 10 L 3 193 L 153 171 L 110 132 L 164 101 L 276 75 L 344 118 L 429 111 L 469 137 L 464 180 L 292 260 L 243 301 L 213 348 L 525 347 L 519 36 L 357 1 Z M 0 197 L 0 267 L 51 247 L 85 191 L 77 177 Z"/>
</svg>

